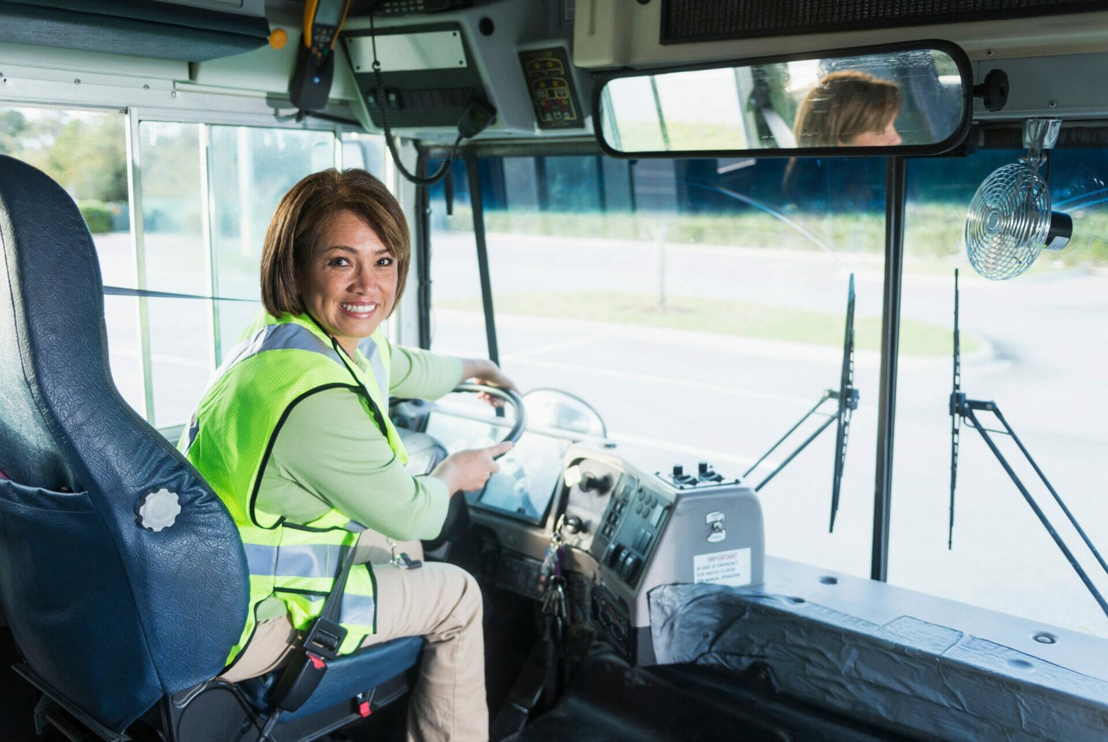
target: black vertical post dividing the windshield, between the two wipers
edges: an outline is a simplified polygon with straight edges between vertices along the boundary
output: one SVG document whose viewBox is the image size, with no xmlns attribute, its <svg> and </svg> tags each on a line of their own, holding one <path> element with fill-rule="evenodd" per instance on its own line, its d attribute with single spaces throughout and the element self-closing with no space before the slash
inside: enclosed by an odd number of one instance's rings
<svg viewBox="0 0 1108 742">
<path fill-rule="evenodd" d="M 878 400 L 878 465 L 873 485 L 873 558 L 870 577 L 889 578 L 889 523 L 893 489 L 893 424 L 896 419 L 896 359 L 904 272 L 904 202 L 907 161 L 885 161 L 885 280 L 881 311 L 881 379 Z"/>
</svg>

